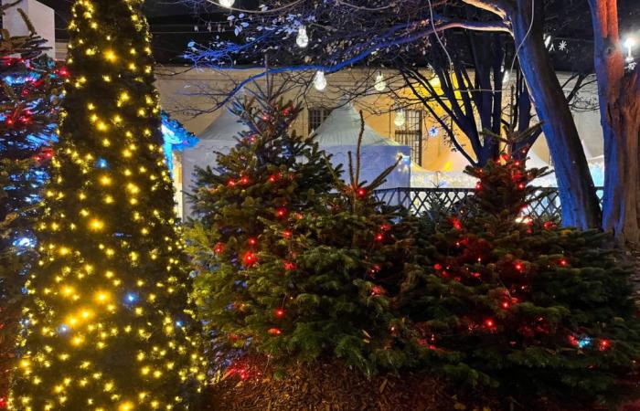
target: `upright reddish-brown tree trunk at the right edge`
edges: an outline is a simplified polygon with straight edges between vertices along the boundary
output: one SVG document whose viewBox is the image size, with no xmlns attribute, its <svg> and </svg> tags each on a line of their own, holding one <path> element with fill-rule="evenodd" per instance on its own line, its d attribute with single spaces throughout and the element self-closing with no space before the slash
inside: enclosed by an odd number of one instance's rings
<svg viewBox="0 0 640 411">
<path fill-rule="evenodd" d="M 640 79 L 624 72 L 617 2 L 589 0 L 604 134 L 603 228 L 640 246 Z"/>
</svg>

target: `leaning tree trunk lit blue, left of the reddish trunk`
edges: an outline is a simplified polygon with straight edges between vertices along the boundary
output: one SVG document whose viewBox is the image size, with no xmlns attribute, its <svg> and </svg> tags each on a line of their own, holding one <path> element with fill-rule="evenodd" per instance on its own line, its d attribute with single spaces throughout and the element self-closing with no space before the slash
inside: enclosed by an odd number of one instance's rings
<svg viewBox="0 0 640 411">
<path fill-rule="evenodd" d="M 537 2 L 541 5 L 541 2 Z M 569 103 L 551 66 L 542 40 L 542 14 L 532 16 L 531 0 L 517 0 L 507 18 L 511 23 L 520 67 L 527 79 L 555 166 L 562 224 L 565 226 L 600 227 L 601 212 L 593 186 L 589 164 L 571 115 Z M 533 18 L 533 25 L 531 19 Z"/>
</svg>

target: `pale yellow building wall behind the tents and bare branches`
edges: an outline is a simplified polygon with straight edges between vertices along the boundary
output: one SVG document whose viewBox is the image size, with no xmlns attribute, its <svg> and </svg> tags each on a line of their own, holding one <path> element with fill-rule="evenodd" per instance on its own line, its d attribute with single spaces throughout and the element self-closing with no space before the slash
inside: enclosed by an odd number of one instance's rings
<svg viewBox="0 0 640 411">
<path fill-rule="evenodd" d="M 232 90 L 242 79 L 257 75 L 260 71 L 258 69 L 246 69 L 221 72 L 208 68 L 158 68 L 157 87 L 165 111 L 169 111 L 176 120 L 183 122 L 190 132 L 198 134 L 203 132 L 219 116 L 219 111 L 211 110 L 215 107 L 214 100 L 203 97 L 203 94 Z M 315 90 L 313 87 L 305 88 L 298 74 L 293 75 L 293 78 L 284 79 L 279 77 L 272 79 L 272 81 L 277 84 L 283 81 L 286 81 L 287 84 L 300 81 L 301 86 L 293 87 L 293 90 L 285 93 L 285 98 L 301 101 L 306 108 L 335 107 L 339 102 L 344 101 L 344 96 L 347 94 L 345 90 L 370 89 L 373 85 L 375 74 L 377 73 L 354 68 L 327 75 L 328 86 L 322 92 Z M 357 110 L 364 111 L 365 119 L 372 129 L 381 135 L 393 138 L 395 129 L 393 108 L 399 102 L 405 105 L 411 103 L 411 100 L 415 102 L 415 99 L 411 97 L 411 90 L 402 90 L 397 87 L 400 84 L 400 79 L 393 79 L 393 75 L 390 72 L 386 72 L 385 75 L 389 83 L 389 88 L 385 92 L 370 92 L 366 95 L 360 95 L 354 101 L 354 105 Z M 264 78 L 259 79 L 257 82 L 261 87 L 266 86 L 266 79 Z M 368 87 L 363 87 L 365 84 Z M 390 95 L 389 89 L 395 90 L 395 95 Z M 421 104 L 417 103 L 415 107 L 420 110 Z M 197 116 L 194 116 L 195 113 L 187 112 L 188 108 L 197 108 L 197 111 L 200 112 Z M 440 132 L 438 137 L 429 136 L 428 131 L 432 125 L 438 126 L 425 112 L 422 125 L 424 135 L 422 165 L 432 171 L 443 171 L 437 170 L 438 166 L 436 164 L 442 165 L 442 162 L 439 162 L 438 159 L 449 155 L 452 151 L 452 146 L 448 139 L 445 138 L 443 131 Z M 295 121 L 293 129 L 299 134 L 307 135 L 307 111 L 304 111 Z M 458 140 L 469 148 L 468 141 L 464 135 L 460 132 L 456 134 L 458 135 Z M 534 146 L 534 151 L 542 160 L 549 161 L 549 150 L 543 139 L 540 139 Z M 470 148 L 468 153 L 471 153 Z"/>
</svg>

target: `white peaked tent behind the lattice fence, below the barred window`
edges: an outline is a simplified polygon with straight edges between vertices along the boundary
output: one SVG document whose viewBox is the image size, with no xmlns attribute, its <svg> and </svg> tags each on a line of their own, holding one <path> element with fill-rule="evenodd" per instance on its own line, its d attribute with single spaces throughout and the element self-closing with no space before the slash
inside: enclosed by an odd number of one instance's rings
<svg viewBox="0 0 640 411">
<path fill-rule="evenodd" d="M 348 169 L 348 153 L 355 155 L 357 139 L 360 134 L 360 115 L 350 103 L 344 104 L 331 112 L 329 117 L 315 131 L 315 141 L 320 148 L 333 154 L 331 159 L 335 165 L 343 164 L 343 170 Z M 411 184 L 411 149 L 398 142 L 383 137 L 365 123 L 360 150 L 360 180 L 371 183 L 390 165 L 403 160 L 399 166 L 387 177 L 387 182 L 379 188 L 408 187 Z M 347 178 L 347 175 L 343 175 Z"/>
</svg>

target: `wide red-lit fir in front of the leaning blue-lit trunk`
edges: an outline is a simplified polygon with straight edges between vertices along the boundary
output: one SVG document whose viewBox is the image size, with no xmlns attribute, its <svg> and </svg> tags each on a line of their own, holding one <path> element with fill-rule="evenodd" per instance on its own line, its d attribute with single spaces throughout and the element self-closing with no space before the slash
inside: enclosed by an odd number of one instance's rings
<svg viewBox="0 0 640 411">
<path fill-rule="evenodd" d="M 518 398 L 620 400 L 640 323 L 607 236 L 528 216 L 544 170 L 504 155 L 467 173 L 472 204 L 422 237 L 430 269 L 401 304 L 433 350 L 460 359 L 445 373 Z"/>
</svg>

